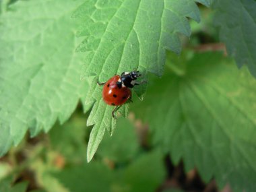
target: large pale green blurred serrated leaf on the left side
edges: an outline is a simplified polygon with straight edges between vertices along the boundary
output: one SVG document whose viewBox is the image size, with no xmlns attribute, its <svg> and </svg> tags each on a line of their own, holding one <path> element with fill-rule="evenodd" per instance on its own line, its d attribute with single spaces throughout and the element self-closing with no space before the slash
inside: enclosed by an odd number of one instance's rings
<svg viewBox="0 0 256 192">
<path fill-rule="evenodd" d="M 32 136 L 66 121 L 87 82 L 79 79 L 83 56 L 75 53 L 82 1 L 18 1 L 0 18 L 0 156 Z M 86 110 L 85 106 L 85 110 Z"/>
</svg>

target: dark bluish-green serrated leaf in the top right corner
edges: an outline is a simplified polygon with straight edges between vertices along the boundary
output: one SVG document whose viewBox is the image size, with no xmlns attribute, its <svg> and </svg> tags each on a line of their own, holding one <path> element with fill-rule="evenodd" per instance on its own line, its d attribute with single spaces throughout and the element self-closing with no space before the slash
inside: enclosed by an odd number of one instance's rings
<svg viewBox="0 0 256 192">
<path fill-rule="evenodd" d="M 256 77 L 256 1 L 216 0 L 215 24 L 220 28 L 220 40 L 238 67 L 247 65 Z"/>
</svg>

